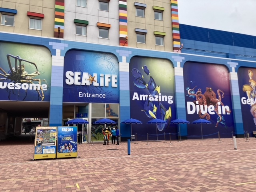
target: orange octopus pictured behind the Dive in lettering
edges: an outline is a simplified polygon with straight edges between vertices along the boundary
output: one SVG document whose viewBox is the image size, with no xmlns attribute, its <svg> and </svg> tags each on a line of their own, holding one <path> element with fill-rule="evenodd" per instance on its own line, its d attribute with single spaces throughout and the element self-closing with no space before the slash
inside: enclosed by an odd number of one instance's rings
<svg viewBox="0 0 256 192">
<path fill-rule="evenodd" d="M 195 91 L 194 91 L 195 88 L 196 88 L 196 86 L 193 89 L 188 89 L 188 95 L 195 97 L 196 101 L 198 101 L 198 104 L 203 106 L 203 109 L 210 105 L 214 106 L 214 111 L 216 112 L 216 114 L 219 117 L 219 119 L 216 123 L 216 126 L 215 126 L 215 127 L 217 127 L 218 124 L 220 122 L 222 122 L 222 116 L 218 112 L 218 106 L 219 105 L 224 106 L 224 104 L 221 101 L 221 99 L 224 98 L 224 92 L 222 90 L 218 89 L 217 90 L 218 98 L 216 98 L 216 93 L 212 90 L 212 88 L 206 87 L 206 91 L 204 92 L 204 94 L 202 94 L 202 90 L 200 88 L 195 93 Z M 228 111 L 226 109 L 225 109 L 225 111 L 227 113 L 231 113 L 231 111 Z M 206 117 L 207 120 L 210 120 L 210 114 L 208 114 L 208 112 L 202 114 L 201 108 L 198 112 L 198 115 L 200 118 Z"/>
</svg>

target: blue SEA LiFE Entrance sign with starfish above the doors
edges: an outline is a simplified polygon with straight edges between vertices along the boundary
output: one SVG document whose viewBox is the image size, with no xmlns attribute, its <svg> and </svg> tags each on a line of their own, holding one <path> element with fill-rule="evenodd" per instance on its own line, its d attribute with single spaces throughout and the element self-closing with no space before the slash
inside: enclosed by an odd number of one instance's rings
<svg viewBox="0 0 256 192">
<path fill-rule="evenodd" d="M 63 102 L 119 103 L 119 66 L 112 54 L 70 50 L 64 58 Z"/>
</svg>

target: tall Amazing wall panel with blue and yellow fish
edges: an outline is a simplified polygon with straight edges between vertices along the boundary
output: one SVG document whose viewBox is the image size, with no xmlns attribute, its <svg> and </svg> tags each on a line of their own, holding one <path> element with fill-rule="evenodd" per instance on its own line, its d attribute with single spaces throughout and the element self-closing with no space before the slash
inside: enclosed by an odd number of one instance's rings
<svg viewBox="0 0 256 192">
<path fill-rule="evenodd" d="M 130 116 L 142 122 L 142 125 L 132 125 L 138 139 L 145 139 L 147 133 L 156 134 L 156 130 L 158 134 L 176 132 L 170 126 L 170 121 L 176 118 L 172 63 L 158 58 L 133 57 L 129 78 Z M 155 118 L 167 124 L 146 124 Z"/>
</svg>

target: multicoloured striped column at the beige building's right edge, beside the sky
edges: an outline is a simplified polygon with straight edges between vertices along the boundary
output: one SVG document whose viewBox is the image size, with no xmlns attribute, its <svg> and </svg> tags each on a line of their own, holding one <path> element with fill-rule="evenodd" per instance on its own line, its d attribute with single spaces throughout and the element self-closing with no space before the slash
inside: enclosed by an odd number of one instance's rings
<svg viewBox="0 0 256 192">
<path fill-rule="evenodd" d="M 180 49 L 180 26 L 178 16 L 178 0 L 171 0 L 171 19 L 172 19 L 172 46 L 173 51 Z"/>
</svg>

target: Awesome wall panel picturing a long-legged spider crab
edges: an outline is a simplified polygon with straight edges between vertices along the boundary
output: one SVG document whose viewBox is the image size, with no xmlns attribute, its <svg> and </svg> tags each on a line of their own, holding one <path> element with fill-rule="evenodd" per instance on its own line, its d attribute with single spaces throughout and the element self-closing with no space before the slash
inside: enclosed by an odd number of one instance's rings
<svg viewBox="0 0 256 192">
<path fill-rule="evenodd" d="M 52 57 L 43 46 L 0 42 L 0 100 L 50 101 Z"/>
</svg>

